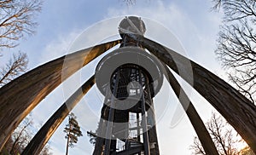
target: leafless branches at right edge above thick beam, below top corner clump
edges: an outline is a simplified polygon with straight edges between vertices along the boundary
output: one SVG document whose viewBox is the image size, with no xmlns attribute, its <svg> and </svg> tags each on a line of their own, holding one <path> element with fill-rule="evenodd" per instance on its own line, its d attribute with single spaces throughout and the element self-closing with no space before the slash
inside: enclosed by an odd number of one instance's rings
<svg viewBox="0 0 256 155">
<path fill-rule="evenodd" d="M 231 69 L 230 81 L 253 102 L 256 89 L 256 33 L 247 20 L 222 26 L 215 53 Z"/>
</svg>

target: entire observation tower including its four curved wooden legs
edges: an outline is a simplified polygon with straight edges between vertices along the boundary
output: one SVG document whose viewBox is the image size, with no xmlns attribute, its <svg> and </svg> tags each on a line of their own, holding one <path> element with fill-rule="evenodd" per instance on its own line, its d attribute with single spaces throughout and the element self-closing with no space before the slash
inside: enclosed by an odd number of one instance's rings
<svg viewBox="0 0 256 155">
<path fill-rule="evenodd" d="M 183 55 L 177 54 L 172 49 L 168 49 L 159 43 L 143 37 L 145 30 L 145 25 L 140 18 L 126 17 L 119 26 L 121 40 L 102 43 L 71 55 L 65 55 L 43 66 L 38 66 L 4 85 L 0 89 L 0 150 L 2 150 L 9 136 L 22 119 L 45 96 L 49 95 L 59 84 L 72 76 L 74 72 L 87 65 L 91 60 L 102 55 L 108 49 L 113 48 L 116 44 L 121 43 L 119 50 L 116 51 L 118 53 L 113 52 L 116 56 L 137 54 L 146 61 L 151 60 L 150 55 L 157 57 L 163 63 L 162 66 L 166 67 L 167 74 L 165 76 L 168 77 L 167 79 L 169 79 L 169 83 L 177 96 L 180 92 L 183 92 L 183 89 L 167 66 L 172 71 L 177 72 L 181 78 L 207 99 L 236 129 L 252 148 L 253 152 L 256 153 L 256 106 L 236 89 L 215 76 L 212 72 L 207 71 L 204 67 Z M 144 49 L 148 49 L 150 54 L 146 54 Z M 67 66 L 63 66 L 64 60 L 67 60 Z M 181 69 L 183 72 L 189 72 L 184 61 L 189 61 L 191 64 L 194 78 L 193 83 L 186 75 L 179 73 Z M 98 67 L 104 68 L 103 62 L 108 62 L 108 59 L 103 59 Z M 152 76 L 148 74 L 147 67 L 143 66 L 143 64 L 135 65 L 132 62 L 130 64 L 128 62 L 123 64 L 118 60 L 114 62 L 117 63 L 116 65 L 119 63 L 119 67 L 110 68 L 110 70 L 108 70 L 109 67 L 105 68 L 109 73 L 109 76 L 106 78 L 108 81 L 107 85 L 104 85 L 106 84 L 106 79 L 97 78 L 98 75 L 101 75 L 101 73 L 105 74 L 106 72 L 96 70 L 96 85 L 102 94 L 105 95 L 105 100 L 102 106 L 102 116 L 98 127 L 94 154 L 160 154 L 156 126 L 151 125 L 148 121 L 148 118 L 151 118 L 152 124 L 155 121 L 152 98 L 159 91 L 161 84 L 157 85 L 152 82 L 155 80 L 155 77 L 160 79 L 158 72 Z M 80 66 L 79 64 L 83 65 Z M 154 66 L 155 64 L 152 67 L 155 68 Z M 156 66 L 159 66 L 159 64 L 156 64 Z M 64 75 L 62 74 L 63 72 L 65 72 Z M 82 92 L 75 92 L 49 118 L 42 129 L 38 131 L 38 134 L 33 137 L 23 154 L 38 154 L 47 141 L 49 141 L 50 136 L 54 134 L 55 129 L 67 117 L 68 110 L 73 109 L 73 106 L 79 102 L 94 83 L 95 78 L 93 76 L 81 87 L 83 89 Z M 130 91 L 125 91 L 124 88 L 128 86 Z M 122 109 L 124 104 L 130 103 L 132 100 L 132 98 L 127 97 L 128 95 L 135 97 L 137 101 L 133 106 Z M 186 98 L 189 100 L 187 96 Z M 180 102 L 183 105 L 183 100 L 180 100 Z M 67 105 L 70 105 L 68 109 Z M 207 154 L 218 154 L 204 123 L 191 102 L 186 113 L 195 128 L 196 134 L 199 136 L 205 152 Z M 131 119 L 132 117 L 134 119 Z M 134 126 L 129 125 L 132 121 Z M 130 135 L 131 132 L 135 134 Z M 122 143 L 124 148 L 121 150 L 117 143 Z"/>
</svg>

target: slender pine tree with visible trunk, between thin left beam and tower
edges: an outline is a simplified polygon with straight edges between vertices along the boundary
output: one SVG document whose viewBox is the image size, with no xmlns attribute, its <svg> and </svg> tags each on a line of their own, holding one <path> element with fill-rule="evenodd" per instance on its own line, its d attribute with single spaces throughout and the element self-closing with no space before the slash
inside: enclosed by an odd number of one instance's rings
<svg viewBox="0 0 256 155">
<path fill-rule="evenodd" d="M 68 116 L 68 123 L 66 124 L 66 127 L 64 129 L 64 132 L 67 133 L 67 135 L 65 136 L 65 138 L 67 139 L 66 155 L 68 152 L 68 147 L 74 147 L 74 144 L 79 141 L 79 136 L 83 136 L 76 118 L 77 117 L 73 114 L 73 112 L 71 112 Z"/>
</svg>

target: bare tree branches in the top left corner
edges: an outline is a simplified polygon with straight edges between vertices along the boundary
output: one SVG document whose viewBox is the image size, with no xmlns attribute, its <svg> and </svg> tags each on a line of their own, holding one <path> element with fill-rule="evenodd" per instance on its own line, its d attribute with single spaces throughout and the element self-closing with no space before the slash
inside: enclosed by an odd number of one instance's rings
<svg viewBox="0 0 256 155">
<path fill-rule="evenodd" d="M 0 49 L 14 48 L 20 38 L 34 33 L 34 17 L 42 0 L 0 0 Z"/>
</svg>

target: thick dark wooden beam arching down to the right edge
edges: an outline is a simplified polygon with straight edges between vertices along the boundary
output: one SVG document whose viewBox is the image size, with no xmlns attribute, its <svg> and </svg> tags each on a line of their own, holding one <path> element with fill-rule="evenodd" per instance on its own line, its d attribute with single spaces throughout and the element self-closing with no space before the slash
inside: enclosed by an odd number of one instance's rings
<svg viewBox="0 0 256 155">
<path fill-rule="evenodd" d="M 185 81 L 200 93 L 212 104 L 214 108 L 236 129 L 239 135 L 247 142 L 253 152 L 256 153 L 256 106 L 244 95 L 241 95 L 230 84 L 218 78 L 206 68 L 196 64 L 183 55 L 177 54 L 172 49 L 168 49 L 160 43 L 155 43 L 145 37 L 129 34 L 144 48 L 158 57 L 166 65 L 170 66 Z M 183 64 L 189 61 L 190 66 Z M 178 67 L 177 67 L 178 66 Z M 193 80 L 185 73 L 192 68 Z M 183 73 L 179 73 L 183 71 Z"/>
</svg>

